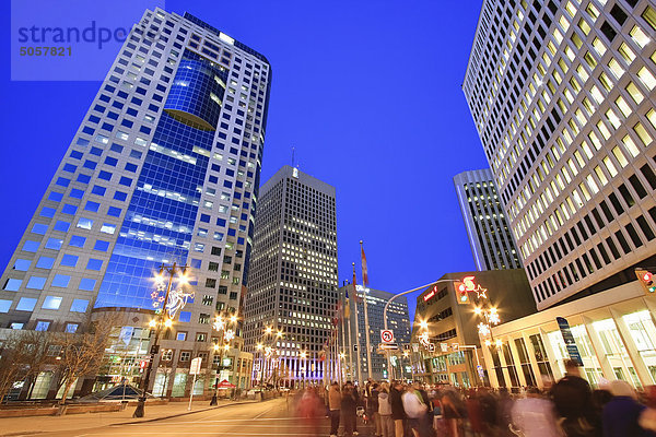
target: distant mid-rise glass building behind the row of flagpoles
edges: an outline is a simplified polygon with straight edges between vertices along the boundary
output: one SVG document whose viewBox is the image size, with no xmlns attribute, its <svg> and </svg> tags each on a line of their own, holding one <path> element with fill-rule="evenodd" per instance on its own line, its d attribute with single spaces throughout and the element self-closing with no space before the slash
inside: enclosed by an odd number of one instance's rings
<svg viewBox="0 0 656 437">
<path fill-rule="evenodd" d="M 342 324 L 339 324 L 339 344 L 343 343 L 343 353 L 345 359 L 345 366 L 343 374 L 347 379 L 355 380 L 358 378 L 358 356 L 360 355 L 360 367 L 361 374 L 364 379 L 367 377 L 367 357 L 366 357 L 366 329 L 370 330 L 370 340 L 372 343 L 372 375 L 371 377 L 380 381 L 389 378 L 391 373 L 387 366 L 387 357 L 384 354 L 378 353 L 378 345 L 380 344 L 380 331 L 385 329 L 385 319 L 383 312 L 385 305 L 394 296 L 394 293 L 383 292 L 380 290 L 366 288 L 366 306 L 368 312 L 368 326 L 365 323 L 364 318 L 364 287 L 362 285 L 355 285 L 358 299 L 353 295 L 353 285 L 348 282 L 339 288 L 339 296 L 341 302 L 345 302 L 345 296 L 349 296 L 349 308 L 350 318 L 344 319 L 344 334 L 342 341 Z M 355 329 L 355 308 L 358 307 L 358 329 Z M 399 351 L 395 353 L 395 359 L 391 361 L 393 366 L 396 366 L 395 375 L 400 377 L 403 365 L 401 355 L 406 345 L 410 344 L 410 316 L 408 315 L 408 299 L 406 296 L 398 297 L 389 304 L 387 309 L 387 328 L 393 330 L 395 343 L 399 345 Z M 349 333 L 351 339 L 349 341 Z M 360 341 L 360 349 L 355 351 L 355 347 Z M 351 350 L 349 350 L 351 346 Z"/>
</svg>

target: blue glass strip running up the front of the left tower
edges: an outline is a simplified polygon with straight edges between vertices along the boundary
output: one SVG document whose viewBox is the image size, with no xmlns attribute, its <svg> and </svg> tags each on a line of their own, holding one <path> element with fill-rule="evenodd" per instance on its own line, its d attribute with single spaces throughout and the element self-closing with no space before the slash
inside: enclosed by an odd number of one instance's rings
<svg viewBox="0 0 656 437">
<path fill-rule="evenodd" d="M 215 125 L 221 108 L 209 95 L 216 91 L 214 75 L 223 73 L 197 58 L 185 52 L 178 69 L 178 73 L 184 69 L 185 74 L 176 74 L 176 81 L 184 78 L 188 86 L 174 83 L 165 108 L 185 108 Z M 189 94 L 185 95 L 181 88 Z M 213 139 L 214 131 L 189 126 L 166 111 L 161 115 L 101 284 L 96 308 L 152 309 L 154 272 L 164 260 L 183 264 L 187 261 Z"/>
</svg>

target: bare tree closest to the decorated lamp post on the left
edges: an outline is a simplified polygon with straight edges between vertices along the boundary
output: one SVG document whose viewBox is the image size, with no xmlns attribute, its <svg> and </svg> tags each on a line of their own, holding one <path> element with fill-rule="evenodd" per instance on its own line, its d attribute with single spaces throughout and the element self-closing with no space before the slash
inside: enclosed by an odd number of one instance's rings
<svg viewBox="0 0 656 437">
<path fill-rule="evenodd" d="M 60 405 L 66 403 L 69 390 L 79 378 L 87 375 L 95 376 L 102 367 L 105 349 L 116 321 L 116 317 L 105 315 L 97 320 L 89 321 L 83 333 L 58 332 L 54 335 L 54 343 L 61 347 L 57 357 L 59 385 L 63 387 Z M 60 408 L 59 414 L 63 412 L 65 409 Z"/>
</svg>

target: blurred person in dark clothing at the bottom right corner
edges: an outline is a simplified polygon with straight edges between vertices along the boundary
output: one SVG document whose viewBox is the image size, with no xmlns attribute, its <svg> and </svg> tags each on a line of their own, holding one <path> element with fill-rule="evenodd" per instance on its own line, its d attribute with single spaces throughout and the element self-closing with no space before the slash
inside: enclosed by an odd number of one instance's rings
<svg viewBox="0 0 656 437">
<path fill-rule="evenodd" d="M 612 399 L 601 413 L 604 437 L 647 437 L 655 434 L 639 424 L 645 405 L 637 402 L 633 387 L 626 381 L 616 380 L 608 385 Z"/>
</svg>

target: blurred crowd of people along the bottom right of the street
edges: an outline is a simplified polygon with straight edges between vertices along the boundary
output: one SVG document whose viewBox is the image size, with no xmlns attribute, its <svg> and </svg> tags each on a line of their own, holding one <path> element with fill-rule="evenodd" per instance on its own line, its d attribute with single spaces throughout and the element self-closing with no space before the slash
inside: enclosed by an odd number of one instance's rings
<svg viewBox="0 0 656 437">
<path fill-rule="evenodd" d="M 566 362 L 565 369 L 544 390 L 528 387 L 520 393 L 371 379 L 360 388 L 333 382 L 327 391 L 306 390 L 298 405 L 307 418 L 316 411 L 329 416 L 330 437 L 358 436 L 359 423 L 377 437 L 656 437 L 656 387 L 637 393 L 616 380 L 593 390 L 576 362 Z M 318 422 L 314 426 L 318 433 Z"/>
</svg>

